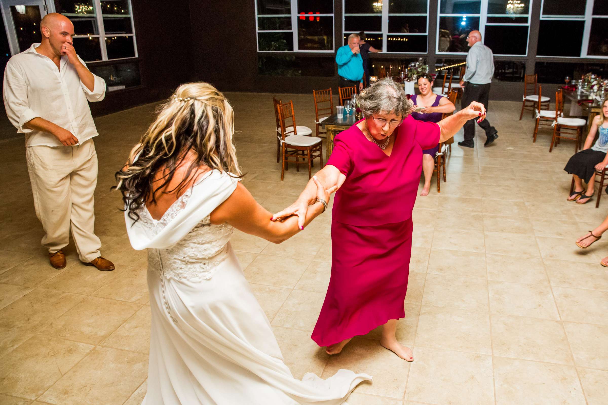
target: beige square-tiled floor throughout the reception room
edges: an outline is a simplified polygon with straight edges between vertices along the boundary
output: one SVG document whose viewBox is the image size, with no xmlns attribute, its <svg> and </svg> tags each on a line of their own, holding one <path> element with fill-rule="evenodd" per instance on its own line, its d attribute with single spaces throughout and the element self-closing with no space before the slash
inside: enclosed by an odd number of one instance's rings
<svg viewBox="0 0 608 405">
<path fill-rule="evenodd" d="M 308 175 L 290 169 L 279 181 L 271 95 L 228 97 L 244 184 L 277 211 Z M 294 100 L 298 124 L 313 125 L 311 96 L 280 97 Z M 109 188 L 153 109 L 96 120 L 95 229 L 117 264 L 110 273 L 79 264 L 73 245 L 65 270 L 47 264 L 23 141 L 0 144 L 1 405 L 131 405 L 145 395 L 145 253 L 131 249 Z M 491 148 L 452 146 L 441 194 L 432 183 L 416 201 L 407 315 L 397 332 L 413 347 L 412 363 L 382 349 L 379 330 L 331 358 L 309 339 L 330 277 L 331 213 L 281 245 L 235 233 L 232 245 L 295 376 L 370 373 L 373 383 L 360 384 L 351 405 L 608 404 L 608 273 L 599 265 L 608 245 L 574 244 L 604 219 L 608 197 L 599 209 L 566 202 L 562 169 L 572 143 L 550 154 L 550 132 L 533 144 L 530 115 L 518 116 L 518 103 L 492 103 L 500 138 Z"/>
</svg>

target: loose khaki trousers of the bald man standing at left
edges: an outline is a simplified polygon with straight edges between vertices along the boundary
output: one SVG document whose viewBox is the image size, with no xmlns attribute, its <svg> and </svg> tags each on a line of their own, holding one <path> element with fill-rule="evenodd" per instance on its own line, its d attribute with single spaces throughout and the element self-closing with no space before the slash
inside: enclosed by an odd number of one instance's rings
<svg viewBox="0 0 608 405">
<path fill-rule="evenodd" d="M 83 262 L 101 256 L 93 233 L 97 152 L 92 139 L 77 146 L 30 146 L 26 152 L 42 245 L 55 253 L 69 243 L 70 229 Z"/>
</svg>

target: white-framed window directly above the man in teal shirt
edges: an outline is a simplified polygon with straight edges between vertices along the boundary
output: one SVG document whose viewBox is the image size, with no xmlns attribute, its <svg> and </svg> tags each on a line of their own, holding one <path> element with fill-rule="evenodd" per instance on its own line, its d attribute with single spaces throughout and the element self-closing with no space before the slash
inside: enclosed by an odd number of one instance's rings
<svg viewBox="0 0 608 405">
<path fill-rule="evenodd" d="M 384 52 L 426 53 L 428 13 L 428 0 L 344 0 L 343 36 L 364 31 Z"/>
</svg>

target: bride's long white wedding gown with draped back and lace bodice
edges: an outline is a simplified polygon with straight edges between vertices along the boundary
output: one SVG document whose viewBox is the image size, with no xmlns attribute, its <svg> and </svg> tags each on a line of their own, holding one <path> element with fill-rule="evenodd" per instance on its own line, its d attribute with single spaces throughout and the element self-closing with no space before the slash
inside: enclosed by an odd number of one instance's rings
<svg viewBox="0 0 608 405">
<path fill-rule="evenodd" d="M 232 247 L 233 228 L 209 214 L 237 180 L 212 171 L 154 220 L 144 207 L 131 245 L 148 249 L 152 311 L 148 392 L 143 405 L 345 403 L 367 374 L 295 379 Z"/>
</svg>

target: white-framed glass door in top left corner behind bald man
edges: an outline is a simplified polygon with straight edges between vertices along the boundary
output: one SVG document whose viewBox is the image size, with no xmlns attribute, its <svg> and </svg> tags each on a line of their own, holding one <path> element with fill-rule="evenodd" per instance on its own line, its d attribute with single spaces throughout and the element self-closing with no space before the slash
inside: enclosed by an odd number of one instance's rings
<svg viewBox="0 0 608 405">
<path fill-rule="evenodd" d="M 0 0 L 11 55 L 40 43 L 40 20 L 47 13 L 44 0 Z"/>
</svg>

